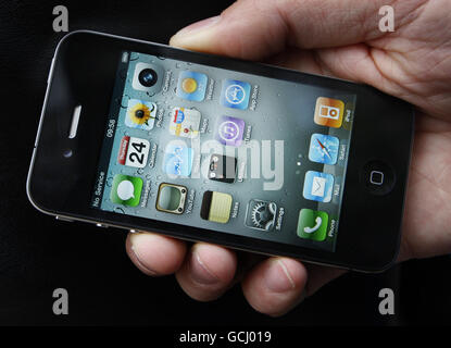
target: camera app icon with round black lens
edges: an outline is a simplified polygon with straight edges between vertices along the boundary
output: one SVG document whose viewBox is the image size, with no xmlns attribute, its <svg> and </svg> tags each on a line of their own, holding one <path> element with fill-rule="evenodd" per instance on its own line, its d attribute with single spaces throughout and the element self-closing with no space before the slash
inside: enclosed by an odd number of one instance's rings
<svg viewBox="0 0 451 348">
<path fill-rule="evenodd" d="M 137 63 L 131 87 L 136 90 L 156 94 L 163 84 L 164 70 L 160 65 Z"/>
</svg>

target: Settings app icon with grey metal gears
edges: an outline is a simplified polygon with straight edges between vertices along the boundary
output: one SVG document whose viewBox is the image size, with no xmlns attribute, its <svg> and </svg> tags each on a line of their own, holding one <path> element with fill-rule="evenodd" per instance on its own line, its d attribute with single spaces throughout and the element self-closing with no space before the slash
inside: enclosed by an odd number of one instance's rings
<svg viewBox="0 0 451 348">
<path fill-rule="evenodd" d="M 245 225 L 261 231 L 273 231 L 276 224 L 277 204 L 260 199 L 248 203 Z"/>
</svg>

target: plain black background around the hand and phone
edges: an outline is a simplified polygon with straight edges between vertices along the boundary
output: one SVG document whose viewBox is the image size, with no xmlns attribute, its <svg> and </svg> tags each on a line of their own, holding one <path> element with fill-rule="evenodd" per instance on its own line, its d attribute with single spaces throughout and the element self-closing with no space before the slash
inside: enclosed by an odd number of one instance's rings
<svg viewBox="0 0 451 348">
<path fill-rule="evenodd" d="M 220 300 L 188 298 L 173 276 L 151 278 L 128 260 L 118 229 L 64 223 L 36 211 L 25 182 L 51 58 L 62 33 L 92 29 L 166 44 L 183 26 L 230 1 L 0 0 L 0 324 L 2 325 L 393 325 L 450 324 L 451 259 L 410 261 L 386 273 L 350 273 L 280 319 L 256 313 L 235 286 Z M 239 35 L 239 34 L 237 34 Z M 70 314 L 52 293 L 68 290 Z M 378 313 L 378 293 L 396 294 L 396 315 Z"/>
</svg>

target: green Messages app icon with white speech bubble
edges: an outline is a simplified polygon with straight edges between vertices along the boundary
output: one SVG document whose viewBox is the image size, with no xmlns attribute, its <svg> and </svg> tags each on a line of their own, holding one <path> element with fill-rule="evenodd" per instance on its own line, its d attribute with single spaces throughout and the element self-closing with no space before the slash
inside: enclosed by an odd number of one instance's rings
<svg viewBox="0 0 451 348">
<path fill-rule="evenodd" d="M 137 207 L 141 199 L 142 179 L 137 176 L 116 174 L 113 178 L 110 199 L 113 203 Z"/>
</svg>

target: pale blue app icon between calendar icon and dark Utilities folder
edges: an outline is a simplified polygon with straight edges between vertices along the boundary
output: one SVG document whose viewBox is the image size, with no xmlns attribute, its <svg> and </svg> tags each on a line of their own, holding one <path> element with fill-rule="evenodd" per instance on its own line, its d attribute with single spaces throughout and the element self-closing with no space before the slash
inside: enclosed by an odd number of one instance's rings
<svg viewBox="0 0 451 348">
<path fill-rule="evenodd" d="M 189 176 L 192 167 L 192 149 L 185 144 L 172 141 L 164 150 L 163 172 L 177 176 Z"/>
</svg>

